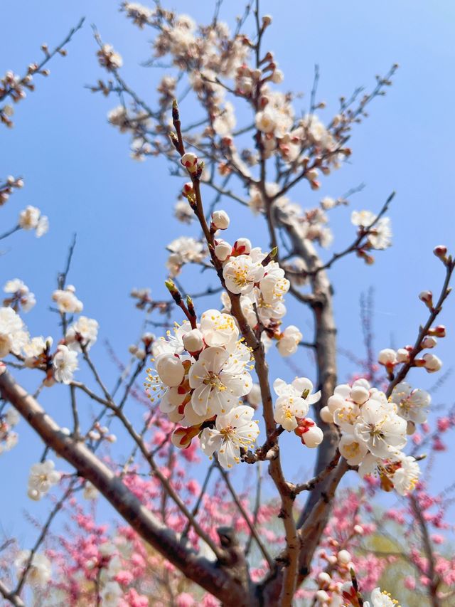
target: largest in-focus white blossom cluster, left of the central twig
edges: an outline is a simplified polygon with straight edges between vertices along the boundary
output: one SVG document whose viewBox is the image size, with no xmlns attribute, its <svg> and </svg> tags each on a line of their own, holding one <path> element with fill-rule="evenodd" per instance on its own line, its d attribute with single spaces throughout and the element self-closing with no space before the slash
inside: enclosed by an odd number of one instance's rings
<svg viewBox="0 0 455 607">
<path fill-rule="evenodd" d="M 186 448 L 199 434 L 204 453 L 217 451 L 223 467 L 240 462 L 240 449 L 254 443 L 259 428 L 254 409 L 239 401 L 253 384 L 250 349 L 234 318 L 207 310 L 197 327 L 176 325 L 173 335 L 154 342 L 153 352 L 156 369 L 148 369 L 145 385 L 152 399 L 161 398 L 161 411 L 183 426 L 173 443 Z"/>
</svg>

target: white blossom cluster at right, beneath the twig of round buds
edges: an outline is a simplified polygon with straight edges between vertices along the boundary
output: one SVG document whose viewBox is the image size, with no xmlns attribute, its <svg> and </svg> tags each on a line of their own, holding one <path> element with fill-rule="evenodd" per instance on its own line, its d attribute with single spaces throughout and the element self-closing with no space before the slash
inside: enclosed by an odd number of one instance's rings
<svg viewBox="0 0 455 607">
<path fill-rule="evenodd" d="M 400 387 L 400 391 L 402 387 Z M 395 394 L 400 401 L 401 392 Z M 382 487 L 400 495 L 412 490 L 419 478 L 419 465 L 402 453 L 407 443 L 407 421 L 385 394 L 366 379 L 352 386 L 336 386 L 321 418 L 336 423 L 341 431 L 339 450 L 350 465 L 358 465 L 361 476 L 379 475 Z"/>
</svg>

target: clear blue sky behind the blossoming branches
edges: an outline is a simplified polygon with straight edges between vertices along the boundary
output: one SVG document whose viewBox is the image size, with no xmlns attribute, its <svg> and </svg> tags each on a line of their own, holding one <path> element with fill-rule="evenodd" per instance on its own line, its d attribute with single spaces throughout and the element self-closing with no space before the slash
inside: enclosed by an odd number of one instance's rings
<svg viewBox="0 0 455 607">
<path fill-rule="evenodd" d="M 171 4 L 207 21 L 213 6 L 213 0 Z M 232 23 L 232 16 L 240 14 L 242 6 L 242 1 L 226 1 L 221 18 Z M 71 235 L 77 232 L 70 282 L 77 287 L 85 313 L 100 321 L 94 358 L 111 383 L 114 372 L 103 339 L 108 338 L 125 358 L 128 344 L 141 327 L 141 313 L 134 309 L 129 291 L 134 286 L 151 286 L 156 297 L 163 296 L 164 247 L 180 233 L 196 233 L 195 227 L 182 228 L 171 220 L 181 184 L 168 176 L 164 160 L 135 163 L 129 159 L 127 137 L 119 135 L 106 120 L 107 110 L 117 103 L 84 88 L 104 76 L 97 65 L 90 29 L 90 23 L 96 23 L 105 41 L 122 54 L 124 78 L 144 97 L 156 98 L 159 73 L 139 65 L 148 57 L 151 34 L 132 26 L 117 7 L 112 0 L 15 0 L 1 8 L 0 36 L 0 73 L 7 69 L 22 73 L 31 60 L 40 58 L 41 43 L 53 47 L 80 16 L 87 18 L 68 47 L 68 57 L 56 57 L 50 64 L 50 78 L 37 78 L 36 92 L 16 107 L 16 127 L 0 130 L 0 174 L 22 175 L 26 182 L 23 191 L 1 209 L 1 232 L 14 225 L 18 211 L 28 204 L 40 207 L 50 218 L 50 232 L 41 240 L 36 241 L 31 233 L 18 233 L 7 247 L 1 247 L 8 250 L 1 257 L 0 278 L 1 283 L 22 278 L 36 293 L 38 305 L 26 317 L 32 334 L 58 337 L 55 315 L 48 312 L 50 293 Z M 328 110 L 321 113 L 323 120 L 330 120 L 340 95 L 349 95 L 358 85 L 371 88 L 376 73 L 385 73 L 392 63 L 400 63 L 387 97 L 370 107 L 371 117 L 355 130 L 350 164 L 323 179 L 321 191 L 314 193 L 301 186 L 293 199 L 311 207 L 322 196 L 339 196 L 364 182 L 366 188 L 353 198 L 352 209 L 374 211 L 380 209 L 390 191 L 397 191 L 390 209 L 393 248 L 378 253 L 373 267 L 350 258 L 342 260 L 333 272 L 336 317 L 340 346 L 362 355 L 358 301 L 360 292 L 374 285 L 377 349 L 392 342 L 397 347 L 413 342 L 419 322 L 425 319 L 417 294 L 437 290 L 441 284 L 442 268 L 432 248 L 446 243 L 453 250 L 455 244 L 455 47 L 449 42 L 454 33 L 455 5 L 445 0 L 268 0 L 262 7 L 274 17 L 265 44 L 276 53 L 284 70 L 284 84 L 305 93 L 304 107 L 309 105 L 314 64 L 319 63 L 319 97 L 328 104 Z M 333 250 L 340 250 L 353 237 L 350 210 L 331 214 L 336 236 Z M 233 208 L 230 212 L 235 215 L 230 231 L 233 240 L 240 236 L 246 216 Z M 242 235 L 267 246 L 261 220 L 249 219 L 247 226 L 246 231 L 242 227 Z M 310 338 L 310 325 L 292 317 L 296 307 L 289 307 L 289 323 L 301 324 L 305 337 Z M 441 317 L 441 322 L 449 325 L 449 337 L 437 349 L 444 369 L 453 360 L 454 321 L 454 302 L 449 300 Z M 294 357 L 294 363 L 311 375 L 305 354 L 300 352 L 299 356 Z M 285 379 L 293 376 L 282 362 L 277 361 L 273 369 Z M 355 371 L 343 358 L 340 369 L 341 379 Z M 423 371 L 414 372 L 414 377 L 422 388 L 435 381 L 434 375 Z M 28 385 L 36 385 L 36 379 Z M 434 401 L 451 404 L 453 386 L 451 377 Z M 53 416 L 64 421 L 67 400 L 66 391 L 56 388 L 43 402 Z M 41 447 L 25 423 L 18 431 L 20 444 L 0 458 L 0 477 L 7 479 L 9 496 L 6 503 L 2 500 L 0 518 L 7 534 L 16 533 L 26 543 L 34 531 L 24 522 L 18 505 L 38 516 L 45 509 L 45 505 L 25 498 L 28 468 L 41 455 Z M 449 458 L 444 456 L 442 461 L 448 463 Z M 451 481 L 444 472 L 435 482 L 442 488 Z"/>
</svg>

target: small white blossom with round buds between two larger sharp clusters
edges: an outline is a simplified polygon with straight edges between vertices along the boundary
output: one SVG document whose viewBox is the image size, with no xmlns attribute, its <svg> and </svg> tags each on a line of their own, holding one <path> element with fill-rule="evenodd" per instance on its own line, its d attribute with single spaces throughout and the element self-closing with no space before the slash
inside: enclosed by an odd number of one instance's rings
<svg viewBox="0 0 455 607">
<path fill-rule="evenodd" d="M 321 428 L 311 418 L 307 418 L 309 406 L 317 403 L 321 392 L 313 393 L 313 384 L 306 377 L 296 377 L 291 384 L 275 379 L 273 388 L 278 398 L 275 403 L 274 420 L 284 430 L 294 431 L 300 436 L 302 444 L 309 448 L 317 447 L 323 439 Z"/>
</svg>

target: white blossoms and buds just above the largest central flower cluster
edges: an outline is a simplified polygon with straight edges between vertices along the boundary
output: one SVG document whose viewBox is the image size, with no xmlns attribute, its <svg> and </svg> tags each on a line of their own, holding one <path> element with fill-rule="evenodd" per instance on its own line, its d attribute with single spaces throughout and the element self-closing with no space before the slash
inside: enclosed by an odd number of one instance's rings
<svg viewBox="0 0 455 607">
<path fill-rule="evenodd" d="M 289 290 L 289 280 L 284 270 L 262 253 L 259 247 L 252 248 L 247 238 L 239 238 L 234 246 L 221 239 L 215 240 L 215 255 L 223 263 L 223 278 L 228 291 L 241 295 L 240 305 L 247 322 L 256 327 L 261 322 L 265 331 L 266 345 L 271 338 L 277 339 L 277 348 L 282 356 L 294 354 L 302 334 L 290 325 L 280 329 L 286 314 L 284 295 Z M 226 312 L 230 312 L 230 299 L 223 292 L 221 300 Z"/>
</svg>

